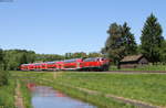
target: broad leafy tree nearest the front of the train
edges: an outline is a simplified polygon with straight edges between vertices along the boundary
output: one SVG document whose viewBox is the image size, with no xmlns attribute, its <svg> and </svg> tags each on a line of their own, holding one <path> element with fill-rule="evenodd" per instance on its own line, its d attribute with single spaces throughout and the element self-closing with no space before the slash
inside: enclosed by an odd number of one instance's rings
<svg viewBox="0 0 166 108">
<path fill-rule="evenodd" d="M 121 58 L 124 56 L 123 52 L 125 50 L 123 46 L 122 26 L 116 23 L 112 23 L 107 33 L 110 36 L 107 37 L 105 47 L 102 52 L 113 60 L 115 64 L 118 64 Z"/>
</svg>

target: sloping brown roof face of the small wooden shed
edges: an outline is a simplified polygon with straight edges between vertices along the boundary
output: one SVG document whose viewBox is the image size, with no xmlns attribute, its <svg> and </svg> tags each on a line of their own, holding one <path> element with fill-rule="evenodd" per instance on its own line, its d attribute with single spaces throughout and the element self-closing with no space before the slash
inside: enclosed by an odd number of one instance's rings
<svg viewBox="0 0 166 108">
<path fill-rule="evenodd" d="M 143 54 L 125 56 L 123 60 L 121 60 L 121 62 L 135 62 L 138 61 L 142 56 Z"/>
</svg>

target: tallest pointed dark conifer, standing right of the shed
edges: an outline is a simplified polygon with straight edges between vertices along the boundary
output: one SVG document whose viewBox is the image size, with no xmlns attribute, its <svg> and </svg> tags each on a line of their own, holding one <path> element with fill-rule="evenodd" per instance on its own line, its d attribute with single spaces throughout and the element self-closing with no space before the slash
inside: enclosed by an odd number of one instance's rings
<svg viewBox="0 0 166 108">
<path fill-rule="evenodd" d="M 164 41 L 162 36 L 163 30 L 157 21 L 157 18 L 152 13 L 142 30 L 142 53 L 148 58 L 149 62 L 159 62 L 159 47 Z"/>
</svg>

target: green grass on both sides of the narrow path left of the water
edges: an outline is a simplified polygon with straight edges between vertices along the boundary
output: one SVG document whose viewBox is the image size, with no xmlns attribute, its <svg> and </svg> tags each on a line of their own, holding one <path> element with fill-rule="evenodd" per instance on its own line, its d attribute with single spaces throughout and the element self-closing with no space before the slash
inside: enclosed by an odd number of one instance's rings
<svg viewBox="0 0 166 108">
<path fill-rule="evenodd" d="M 11 73 L 10 73 L 11 74 Z M 23 104 L 25 108 L 32 108 L 31 106 L 31 95 L 25 87 L 25 84 L 19 80 L 22 94 Z M 17 77 L 9 76 L 9 84 L 0 86 L 0 108 L 15 108 L 15 88 L 17 88 Z"/>
</svg>

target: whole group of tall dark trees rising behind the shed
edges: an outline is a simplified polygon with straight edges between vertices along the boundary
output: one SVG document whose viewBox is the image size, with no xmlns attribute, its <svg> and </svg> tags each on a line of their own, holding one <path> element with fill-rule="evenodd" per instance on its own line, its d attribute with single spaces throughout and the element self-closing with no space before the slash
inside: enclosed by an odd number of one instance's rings
<svg viewBox="0 0 166 108">
<path fill-rule="evenodd" d="M 157 18 L 152 13 L 144 23 L 141 44 L 136 44 L 131 28 L 125 22 L 123 25 L 112 23 L 107 31 L 108 37 L 101 50 L 104 56 L 111 58 L 114 64 L 127 55 L 143 54 L 153 64 L 166 63 L 166 40 Z"/>
</svg>

